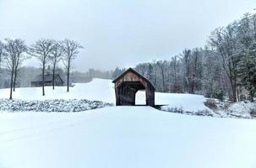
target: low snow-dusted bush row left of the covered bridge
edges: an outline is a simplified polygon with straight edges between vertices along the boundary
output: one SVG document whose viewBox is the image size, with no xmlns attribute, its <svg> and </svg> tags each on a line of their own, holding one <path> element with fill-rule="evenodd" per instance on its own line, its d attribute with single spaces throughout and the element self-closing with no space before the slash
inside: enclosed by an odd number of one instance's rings
<svg viewBox="0 0 256 168">
<path fill-rule="evenodd" d="M 0 111 L 8 112 L 81 112 L 95 108 L 104 108 L 106 106 L 112 106 L 112 104 L 100 101 L 89 101 L 86 99 L 42 101 L 0 99 Z"/>
</svg>

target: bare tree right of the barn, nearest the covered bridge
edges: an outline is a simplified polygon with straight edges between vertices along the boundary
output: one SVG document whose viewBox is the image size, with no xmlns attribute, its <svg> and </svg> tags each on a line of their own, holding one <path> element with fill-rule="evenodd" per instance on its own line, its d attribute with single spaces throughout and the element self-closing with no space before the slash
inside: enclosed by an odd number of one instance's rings
<svg viewBox="0 0 256 168">
<path fill-rule="evenodd" d="M 70 39 L 64 39 L 62 41 L 63 49 L 63 65 L 67 68 L 67 92 L 69 92 L 69 73 L 71 68 L 71 62 L 79 54 L 79 49 L 83 48 L 78 42 Z"/>
</svg>

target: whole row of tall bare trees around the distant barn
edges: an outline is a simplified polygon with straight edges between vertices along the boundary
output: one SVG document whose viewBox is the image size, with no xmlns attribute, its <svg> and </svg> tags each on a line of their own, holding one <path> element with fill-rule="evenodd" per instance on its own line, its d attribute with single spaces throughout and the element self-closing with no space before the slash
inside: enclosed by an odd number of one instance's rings
<svg viewBox="0 0 256 168">
<path fill-rule="evenodd" d="M 57 65 L 62 62 L 67 73 L 67 92 L 69 92 L 70 69 L 73 60 L 83 48 L 78 42 L 71 39 L 61 41 L 54 39 L 39 39 L 33 45 L 25 45 L 23 39 L 4 39 L 0 41 L 0 67 L 8 70 L 10 95 L 13 98 L 15 92 L 19 68 L 25 60 L 34 57 L 41 63 L 42 95 L 45 96 L 45 71 L 46 66 L 52 68 L 52 89 L 55 85 L 55 74 Z"/>
</svg>

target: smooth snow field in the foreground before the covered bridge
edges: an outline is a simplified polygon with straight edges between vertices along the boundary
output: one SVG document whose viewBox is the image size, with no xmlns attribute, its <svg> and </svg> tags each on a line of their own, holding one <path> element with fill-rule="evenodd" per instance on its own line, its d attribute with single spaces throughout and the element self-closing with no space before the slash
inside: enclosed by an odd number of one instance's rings
<svg viewBox="0 0 256 168">
<path fill-rule="evenodd" d="M 111 107 L 0 113 L 0 167 L 254 168 L 256 123 Z"/>
</svg>

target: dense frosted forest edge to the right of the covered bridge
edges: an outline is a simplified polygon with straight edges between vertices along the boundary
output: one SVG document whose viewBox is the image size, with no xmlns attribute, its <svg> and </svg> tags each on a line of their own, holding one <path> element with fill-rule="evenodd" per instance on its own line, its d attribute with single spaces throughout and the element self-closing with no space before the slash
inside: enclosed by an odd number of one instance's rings
<svg viewBox="0 0 256 168">
<path fill-rule="evenodd" d="M 246 13 L 215 29 L 201 48 L 185 49 L 170 60 L 153 60 L 135 67 L 158 92 L 188 92 L 233 102 L 256 93 L 256 14 Z M 124 70 L 117 68 L 113 78 Z"/>
</svg>

